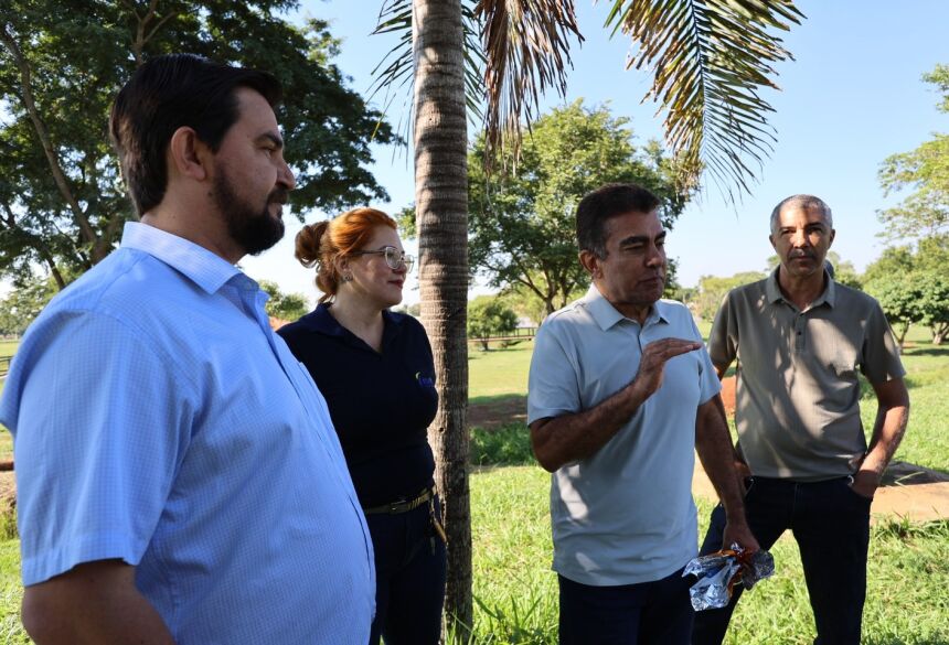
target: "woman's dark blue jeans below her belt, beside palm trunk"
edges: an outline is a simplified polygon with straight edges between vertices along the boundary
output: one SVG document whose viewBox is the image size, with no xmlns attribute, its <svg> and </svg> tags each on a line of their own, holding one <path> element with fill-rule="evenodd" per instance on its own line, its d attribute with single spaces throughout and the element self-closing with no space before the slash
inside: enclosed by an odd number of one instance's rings
<svg viewBox="0 0 949 645">
<path fill-rule="evenodd" d="M 436 504 L 438 499 L 436 498 Z M 440 515 L 440 505 L 437 505 Z M 375 551 L 375 619 L 370 645 L 437 645 L 445 601 L 445 542 L 428 504 L 395 515 L 366 515 Z"/>
</svg>

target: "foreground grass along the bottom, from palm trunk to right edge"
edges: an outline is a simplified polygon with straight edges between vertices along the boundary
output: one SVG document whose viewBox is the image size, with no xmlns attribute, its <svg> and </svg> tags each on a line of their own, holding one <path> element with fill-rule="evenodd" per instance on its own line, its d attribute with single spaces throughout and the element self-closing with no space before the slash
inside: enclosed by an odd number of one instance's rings
<svg viewBox="0 0 949 645">
<path fill-rule="evenodd" d="M 471 477 L 476 643 L 556 643 L 548 488 L 550 475 L 537 466 L 482 470 Z M 700 499 L 699 507 L 700 531 L 704 531 L 711 503 Z M 797 545 L 786 535 L 772 553 L 775 577 L 744 596 L 726 643 L 803 645 L 813 641 Z M 874 527 L 864 643 L 949 643 L 947 562 L 947 522 Z"/>
</svg>

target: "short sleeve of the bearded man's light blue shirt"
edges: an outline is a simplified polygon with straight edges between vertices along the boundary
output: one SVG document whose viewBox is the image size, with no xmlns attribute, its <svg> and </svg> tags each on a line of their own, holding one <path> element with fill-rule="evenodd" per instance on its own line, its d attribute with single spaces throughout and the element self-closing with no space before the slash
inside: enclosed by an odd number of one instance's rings
<svg viewBox="0 0 949 645">
<path fill-rule="evenodd" d="M 190 440 L 189 377 L 109 315 L 61 312 L 31 332 L 3 406 L 23 583 L 94 560 L 138 565 Z"/>
</svg>

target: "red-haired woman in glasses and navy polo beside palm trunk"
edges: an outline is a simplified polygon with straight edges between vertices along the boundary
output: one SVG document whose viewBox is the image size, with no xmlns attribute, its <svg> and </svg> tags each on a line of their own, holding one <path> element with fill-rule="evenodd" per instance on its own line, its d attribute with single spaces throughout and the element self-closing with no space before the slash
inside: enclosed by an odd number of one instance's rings
<svg viewBox="0 0 949 645">
<path fill-rule="evenodd" d="M 373 208 L 306 226 L 296 246 L 323 295 L 278 333 L 327 399 L 372 535 L 370 643 L 435 645 L 446 567 L 426 436 L 438 406 L 435 365 L 422 324 L 390 311 L 414 260 L 395 221 Z"/>
</svg>

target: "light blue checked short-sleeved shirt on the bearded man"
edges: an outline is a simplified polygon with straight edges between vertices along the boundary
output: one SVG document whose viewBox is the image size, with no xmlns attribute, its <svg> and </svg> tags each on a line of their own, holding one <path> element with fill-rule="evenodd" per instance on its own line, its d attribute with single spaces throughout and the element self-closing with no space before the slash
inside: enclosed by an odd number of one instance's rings
<svg viewBox="0 0 949 645">
<path fill-rule="evenodd" d="M 24 584 L 118 558 L 181 644 L 367 641 L 365 522 L 265 301 L 218 256 L 130 223 L 43 311 L 0 401 Z"/>
</svg>

